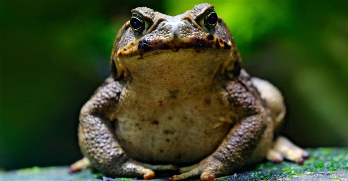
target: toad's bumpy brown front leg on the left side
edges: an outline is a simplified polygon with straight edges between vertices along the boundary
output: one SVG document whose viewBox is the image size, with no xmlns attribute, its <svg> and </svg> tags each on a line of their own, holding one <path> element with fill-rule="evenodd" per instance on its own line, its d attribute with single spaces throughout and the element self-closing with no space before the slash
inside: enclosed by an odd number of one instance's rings
<svg viewBox="0 0 348 181">
<path fill-rule="evenodd" d="M 117 109 L 122 85 L 108 78 L 80 112 L 79 145 L 91 164 L 108 176 L 140 176 L 151 179 L 155 173 L 129 159 L 117 142 L 106 115 Z"/>
</svg>

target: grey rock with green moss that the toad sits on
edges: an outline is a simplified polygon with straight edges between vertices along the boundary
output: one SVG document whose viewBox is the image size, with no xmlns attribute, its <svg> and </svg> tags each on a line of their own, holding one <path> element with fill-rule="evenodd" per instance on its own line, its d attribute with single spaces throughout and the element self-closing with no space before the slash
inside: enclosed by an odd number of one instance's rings
<svg viewBox="0 0 348 181">
<path fill-rule="evenodd" d="M 316 148 L 307 149 L 307 151 L 311 153 L 311 157 L 303 165 L 286 161 L 280 164 L 263 162 L 242 168 L 231 176 L 218 178 L 217 180 L 348 181 L 348 148 Z M 75 174 L 68 174 L 68 167 L 60 166 L 33 167 L 8 172 L 1 171 L 0 180 L 129 181 L 136 180 L 136 178 L 108 178 L 90 169 Z M 153 181 L 167 181 L 167 179 L 161 177 Z"/>
</svg>

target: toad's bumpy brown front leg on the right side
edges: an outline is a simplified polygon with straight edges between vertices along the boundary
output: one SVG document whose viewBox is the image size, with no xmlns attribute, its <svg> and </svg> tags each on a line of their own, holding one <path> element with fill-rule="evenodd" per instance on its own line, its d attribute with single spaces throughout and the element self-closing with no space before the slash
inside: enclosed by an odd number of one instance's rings
<svg viewBox="0 0 348 181">
<path fill-rule="evenodd" d="M 246 80 L 248 81 L 248 80 Z M 233 111 L 240 113 L 241 120 L 234 125 L 218 149 L 201 161 L 192 170 L 175 175 L 170 180 L 181 180 L 199 176 L 201 180 L 214 180 L 216 176 L 226 175 L 241 167 L 260 142 L 271 121 L 257 92 L 248 89 L 243 81 L 231 81 L 226 87 L 228 100 Z M 181 171 L 187 170 L 181 168 Z"/>
</svg>

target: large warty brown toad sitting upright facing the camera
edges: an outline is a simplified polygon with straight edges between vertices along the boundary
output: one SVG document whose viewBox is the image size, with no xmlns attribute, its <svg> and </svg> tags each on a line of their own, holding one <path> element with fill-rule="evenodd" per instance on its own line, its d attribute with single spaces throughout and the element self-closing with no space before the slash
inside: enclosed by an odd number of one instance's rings
<svg viewBox="0 0 348 181">
<path fill-rule="evenodd" d="M 108 176 L 214 180 L 245 164 L 308 153 L 273 133 L 285 115 L 279 90 L 241 67 L 234 39 L 214 6 L 177 16 L 133 9 L 111 54 L 111 75 L 82 107 L 84 159 Z M 160 164 L 160 165 L 159 165 Z"/>
</svg>

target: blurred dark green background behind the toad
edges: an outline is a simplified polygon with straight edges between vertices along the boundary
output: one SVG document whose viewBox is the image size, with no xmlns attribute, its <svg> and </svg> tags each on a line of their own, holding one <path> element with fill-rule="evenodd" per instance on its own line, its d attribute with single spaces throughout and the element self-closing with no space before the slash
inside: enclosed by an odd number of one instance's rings
<svg viewBox="0 0 348 181">
<path fill-rule="evenodd" d="M 109 75 L 130 10 L 177 15 L 201 2 L 226 21 L 247 71 L 284 94 L 284 135 L 303 147 L 348 146 L 346 0 L 1 0 L 0 168 L 81 158 L 79 110 Z"/>
</svg>

